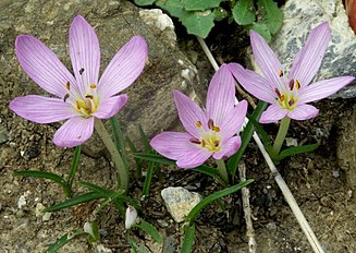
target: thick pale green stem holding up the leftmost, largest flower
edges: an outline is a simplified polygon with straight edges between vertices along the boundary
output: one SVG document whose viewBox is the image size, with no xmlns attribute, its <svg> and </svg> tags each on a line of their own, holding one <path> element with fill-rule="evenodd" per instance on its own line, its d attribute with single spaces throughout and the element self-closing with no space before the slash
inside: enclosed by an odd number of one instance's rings
<svg viewBox="0 0 356 253">
<path fill-rule="evenodd" d="M 115 146 L 112 142 L 106 126 L 99 119 L 95 119 L 95 130 L 98 132 L 99 136 L 101 137 L 103 144 L 108 148 L 111 159 L 113 160 L 116 170 L 118 170 L 118 184 L 120 189 L 123 189 L 127 192 L 128 189 L 128 171 L 124 166 L 124 161 Z"/>
</svg>

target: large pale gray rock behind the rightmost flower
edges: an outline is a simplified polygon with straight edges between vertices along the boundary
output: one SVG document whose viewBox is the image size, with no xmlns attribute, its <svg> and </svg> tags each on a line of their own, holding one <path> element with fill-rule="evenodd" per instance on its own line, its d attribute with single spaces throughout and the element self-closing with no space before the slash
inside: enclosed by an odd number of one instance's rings
<svg viewBox="0 0 356 253">
<path fill-rule="evenodd" d="M 342 75 L 356 76 L 356 36 L 348 25 L 342 1 L 289 0 L 282 11 L 283 26 L 270 46 L 286 71 L 290 70 L 309 32 L 323 21 L 329 21 L 332 37 L 315 81 Z M 256 69 L 255 62 L 253 65 Z M 332 97 L 356 97 L 355 83 L 348 84 Z"/>
</svg>

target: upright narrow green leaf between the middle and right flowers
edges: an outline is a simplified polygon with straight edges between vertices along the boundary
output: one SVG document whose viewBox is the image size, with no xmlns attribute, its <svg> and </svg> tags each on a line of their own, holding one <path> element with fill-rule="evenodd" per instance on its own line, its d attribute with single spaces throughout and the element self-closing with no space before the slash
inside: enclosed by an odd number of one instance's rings
<svg viewBox="0 0 356 253">
<path fill-rule="evenodd" d="M 256 119 L 256 121 L 259 120 L 259 118 L 261 117 L 263 110 L 267 107 L 267 103 L 265 101 L 259 101 L 257 104 L 256 109 L 254 110 L 251 118 Z M 241 135 L 242 138 L 242 144 L 241 147 L 238 148 L 237 153 L 235 155 L 233 155 L 232 157 L 230 157 L 229 161 L 228 161 L 228 171 L 233 176 L 232 178 L 235 177 L 236 170 L 237 170 L 237 165 L 250 141 L 250 138 L 253 137 L 255 131 L 255 126 L 253 124 L 253 122 L 248 122 L 246 128 L 244 129 L 244 132 Z"/>
</svg>

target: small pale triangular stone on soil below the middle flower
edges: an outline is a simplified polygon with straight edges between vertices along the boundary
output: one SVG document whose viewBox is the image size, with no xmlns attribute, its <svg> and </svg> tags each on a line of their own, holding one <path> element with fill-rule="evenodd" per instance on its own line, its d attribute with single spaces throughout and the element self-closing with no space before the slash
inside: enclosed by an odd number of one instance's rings
<svg viewBox="0 0 356 253">
<path fill-rule="evenodd" d="M 175 222 L 184 221 L 185 217 L 200 201 L 198 193 L 193 193 L 184 188 L 165 188 L 161 191 L 168 212 Z"/>
</svg>

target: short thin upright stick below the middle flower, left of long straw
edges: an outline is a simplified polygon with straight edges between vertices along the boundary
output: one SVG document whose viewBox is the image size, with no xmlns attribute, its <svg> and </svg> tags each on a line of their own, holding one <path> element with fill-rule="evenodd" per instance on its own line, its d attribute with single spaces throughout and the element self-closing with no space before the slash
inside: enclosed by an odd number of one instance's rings
<svg viewBox="0 0 356 253">
<path fill-rule="evenodd" d="M 238 165 L 238 174 L 241 182 L 246 181 L 246 165 L 245 162 L 240 162 Z M 253 226 L 251 219 L 251 212 L 249 206 L 249 189 L 243 188 L 241 189 L 243 195 L 243 207 L 245 213 L 245 220 L 246 220 L 246 236 L 248 238 L 248 251 L 249 253 L 256 253 L 257 251 L 257 243 L 255 240 L 255 230 Z"/>
</svg>

